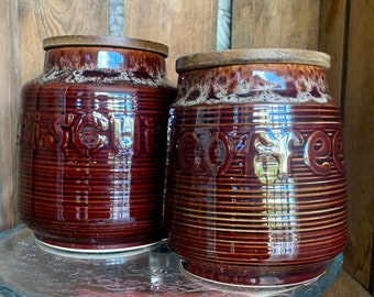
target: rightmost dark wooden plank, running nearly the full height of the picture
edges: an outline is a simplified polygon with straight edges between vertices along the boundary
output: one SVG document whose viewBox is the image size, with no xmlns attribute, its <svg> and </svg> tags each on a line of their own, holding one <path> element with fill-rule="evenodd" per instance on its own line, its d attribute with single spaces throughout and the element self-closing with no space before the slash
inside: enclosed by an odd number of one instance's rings
<svg viewBox="0 0 374 297">
<path fill-rule="evenodd" d="M 345 270 L 369 288 L 374 226 L 374 1 L 351 1 L 345 94 Z"/>
</svg>

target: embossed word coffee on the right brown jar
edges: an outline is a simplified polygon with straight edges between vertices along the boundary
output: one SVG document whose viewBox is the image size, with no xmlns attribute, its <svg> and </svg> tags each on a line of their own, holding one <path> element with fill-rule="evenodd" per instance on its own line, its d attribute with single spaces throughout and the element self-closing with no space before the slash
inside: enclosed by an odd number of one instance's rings
<svg viewBox="0 0 374 297">
<path fill-rule="evenodd" d="M 230 132 L 196 131 L 184 133 L 178 142 L 178 161 L 186 174 L 224 175 L 235 157 L 235 170 L 245 176 L 292 176 L 296 155 L 304 156 L 305 164 L 317 175 L 330 174 L 332 163 L 339 172 L 344 170 L 339 131 L 331 139 L 323 131 L 306 136 L 293 128 L 263 128 L 246 131 L 235 140 Z"/>
</svg>

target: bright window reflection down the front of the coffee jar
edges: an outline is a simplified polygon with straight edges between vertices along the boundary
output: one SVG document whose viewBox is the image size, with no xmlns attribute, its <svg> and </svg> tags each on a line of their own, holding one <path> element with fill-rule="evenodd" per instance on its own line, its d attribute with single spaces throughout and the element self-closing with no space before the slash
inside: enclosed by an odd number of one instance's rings
<svg viewBox="0 0 374 297">
<path fill-rule="evenodd" d="M 290 160 L 292 147 L 302 143 L 302 135 L 287 125 L 292 120 L 289 106 L 274 105 L 255 116 L 261 129 L 254 142 L 254 170 L 264 196 L 263 220 L 268 228 L 270 258 L 293 257 L 297 254 L 298 231 Z"/>
</svg>

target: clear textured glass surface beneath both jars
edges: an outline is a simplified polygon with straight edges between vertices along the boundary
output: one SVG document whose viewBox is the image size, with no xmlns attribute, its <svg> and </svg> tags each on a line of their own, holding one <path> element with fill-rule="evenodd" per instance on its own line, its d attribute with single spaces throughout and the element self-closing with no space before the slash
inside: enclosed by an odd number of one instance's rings
<svg viewBox="0 0 374 297">
<path fill-rule="evenodd" d="M 337 279 L 343 256 L 314 282 L 283 287 L 230 286 L 188 274 L 165 242 L 131 252 L 82 254 L 48 249 L 24 224 L 0 233 L 0 296 L 318 297 Z"/>
</svg>

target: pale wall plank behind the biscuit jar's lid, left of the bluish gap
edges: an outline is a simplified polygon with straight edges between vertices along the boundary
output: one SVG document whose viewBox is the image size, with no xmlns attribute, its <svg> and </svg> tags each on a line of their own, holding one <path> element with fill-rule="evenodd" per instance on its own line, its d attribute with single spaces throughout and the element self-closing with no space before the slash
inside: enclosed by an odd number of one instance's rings
<svg viewBox="0 0 374 297">
<path fill-rule="evenodd" d="M 65 34 L 108 34 L 107 1 L 19 1 L 22 84 L 43 70 L 43 38 Z"/>
</svg>

